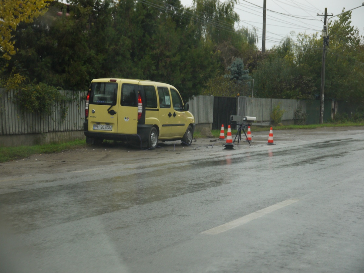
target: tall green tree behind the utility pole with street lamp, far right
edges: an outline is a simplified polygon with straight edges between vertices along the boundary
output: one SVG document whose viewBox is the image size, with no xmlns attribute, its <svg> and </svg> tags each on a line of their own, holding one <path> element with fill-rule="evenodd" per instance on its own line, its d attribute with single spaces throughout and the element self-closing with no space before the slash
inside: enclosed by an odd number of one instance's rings
<svg viewBox="0 0 364 273">
<path fill-rule="evenodd" d="M 343 10 L 344 11 L 344 10 Z M 351 26 L 351 12 L 329 21 L 329 46 L 325 66 L 325 99 L 364 103 L 363 37 Z M 318 97 L 321 86 L 322 39 L 317 33 L 298 35 L 296 63 L 304 67 L 305 75 L 312 79 L 313 94 Z"/>
</svg>

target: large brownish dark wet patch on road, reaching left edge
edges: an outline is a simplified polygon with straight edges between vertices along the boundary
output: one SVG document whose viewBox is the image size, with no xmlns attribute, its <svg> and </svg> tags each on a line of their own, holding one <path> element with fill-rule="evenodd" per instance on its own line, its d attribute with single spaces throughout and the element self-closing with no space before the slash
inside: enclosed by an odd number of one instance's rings
<svg viewBox="0 0 364 273">
<path fill-rule="evenodd" d="M 155 171 L 1 194 L 0 209 L 17 232 L 29 232 L 226 183 L 219 175 L 201 182 L 201 177 L 184 179 L 183 173 Z"/>
</svg>

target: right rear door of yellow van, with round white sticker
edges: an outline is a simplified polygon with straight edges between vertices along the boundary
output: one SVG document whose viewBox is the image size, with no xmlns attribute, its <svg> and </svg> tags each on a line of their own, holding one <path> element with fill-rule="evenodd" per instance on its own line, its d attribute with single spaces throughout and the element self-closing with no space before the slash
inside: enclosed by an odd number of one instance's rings
<svg viewBox="0 0 364 273">
<path fill-rule="evenodd" d="M 118 103 L 118 134 L 137 134 L 138 87 L 137 83 L 123 82 L 121 85 Z"/>
</svg>

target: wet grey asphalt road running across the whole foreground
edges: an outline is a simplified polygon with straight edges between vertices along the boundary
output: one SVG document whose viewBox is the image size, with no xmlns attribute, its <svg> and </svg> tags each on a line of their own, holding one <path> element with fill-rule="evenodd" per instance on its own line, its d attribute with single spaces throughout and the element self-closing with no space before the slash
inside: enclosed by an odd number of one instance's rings
<svg viewBox="0 0 364 273">
<path fill-rule="evenodd" d="M 0 272 L 364 272 L 364 128 L 268 133 L 2 163 Z"/>
</svg>

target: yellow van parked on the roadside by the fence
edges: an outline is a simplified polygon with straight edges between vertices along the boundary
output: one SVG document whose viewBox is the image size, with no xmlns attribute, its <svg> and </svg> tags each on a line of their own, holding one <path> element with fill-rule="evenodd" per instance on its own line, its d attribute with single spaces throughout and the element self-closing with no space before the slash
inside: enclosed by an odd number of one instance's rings
<svg viewBox="0 0 364 273">
<path fill-rule="evenodd" d="M 93 79 L 85 104 L 86 143 L 137 140 L 155 148 L 158 140 L 191 145 L 195 119 L 177 88 L 149 80 Z"/>
</svg>

